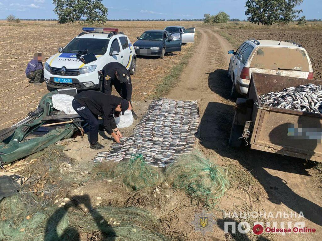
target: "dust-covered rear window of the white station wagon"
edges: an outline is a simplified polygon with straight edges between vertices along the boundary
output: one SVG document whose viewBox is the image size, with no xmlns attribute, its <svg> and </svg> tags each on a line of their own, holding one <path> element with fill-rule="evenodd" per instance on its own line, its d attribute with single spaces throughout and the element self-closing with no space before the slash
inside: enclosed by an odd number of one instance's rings
<svg viewBox="0 0 322 241">
<path fill-rule="evenodd" d="M 251 68 L 309 72 L 308 57 L 302 49 L 263 47 L 257 49 Z"/>
</svg>

